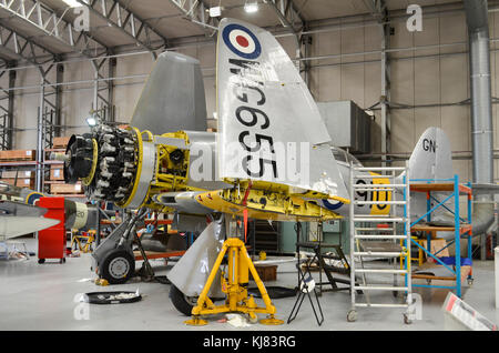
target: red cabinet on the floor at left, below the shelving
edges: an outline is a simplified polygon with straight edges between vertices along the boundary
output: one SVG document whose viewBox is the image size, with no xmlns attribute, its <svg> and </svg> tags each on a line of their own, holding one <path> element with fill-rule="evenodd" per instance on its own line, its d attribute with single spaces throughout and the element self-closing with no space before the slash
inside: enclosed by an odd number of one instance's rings
<svg viewBox="0 0 499 353">
<path fill-rule="evenodd" d="M 59 259 L 65 262 L 64 198 L 40 198 L 38 205 L 48 209 L 45 219 L 60 220 L 59 224 L 38 232 L 38 259 Z"/>
</svg>

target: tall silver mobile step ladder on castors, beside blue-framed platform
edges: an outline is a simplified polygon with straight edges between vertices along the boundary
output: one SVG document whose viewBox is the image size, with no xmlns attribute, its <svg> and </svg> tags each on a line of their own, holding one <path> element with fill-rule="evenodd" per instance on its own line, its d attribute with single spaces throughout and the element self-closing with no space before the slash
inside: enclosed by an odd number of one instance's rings
<svg viewBox="0 0 499 353">
<path fill-rule="evenodd" d="M 380 175 L 378 173 L 385 173 Z M 409 168 L 364 168 L 350 164 L 350 295 L 347 321 L 357 320 L 357 307 L 400 307 L 410 323 L 413 285 L 410 275 Z M 398 225 L 398 226 L 397 226 Z M 403 259 L 403 265 L 397 264 Z M 388 260 L 386 263 L 378 260 Z M 393 275 L 387 285 L 386 275 Z M 404 278 L 404 284 L 398 284 Z M 360 280 L 358 280 L 360 279 Z M 360 284 L 358 284 L 360 283 Z M 361 291 L 365 302 L 357 302 Z M 404 303 L 373 303 L 371 292 L 406 294 Z"/>
</svg>

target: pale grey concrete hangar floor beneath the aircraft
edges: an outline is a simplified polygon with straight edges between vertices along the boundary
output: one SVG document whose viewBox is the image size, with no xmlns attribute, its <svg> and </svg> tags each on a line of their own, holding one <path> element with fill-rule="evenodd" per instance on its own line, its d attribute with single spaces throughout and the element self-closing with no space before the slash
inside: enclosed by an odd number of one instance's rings
<svg viewBox="0 0 499 353">
<path fill-rule="evenodd" d="M 33 239 L 23 239 L 30 251 L 37 251 Z M 98 286 L 91 280 L 95 278 L 90 271 L 91 255 L 69 258 L 65 264 L 48 261 L 38 264 L 38 259 L 29 261 L 0 261 L 0 330 L 167 330 L 167 331 L 345 331 L 345 330 L 445 330 L 441 305 L 448 293 L 442 289 L 416 289 L 422 297 L 422 320 L 413 324 L 403 323 L 401 309 L 358 309 L 355 323 L 346 321 L 350 297 L 347 292 L 326 292 L 319 299 L 325 320 L 318 326 L 307 300 L 291 324 L 265 326 L 254 324 L 236 329 L 228 323 L 217 323 L 218 317 L 210 317 L 206 326 L 187 326 L 187 319 L 180 314 L 169 299 L 170 285 L 145 283 L 139 280 L 123 285 Z M 166 274 L 170 266 L 164 262 L 152 261 L 156 274 Z M 492 322 L 499 322 L 499 311 L 495 309 L 493 261 L 475 261 L 475 283 L 464 286 L 465 301 Z M 293 263 L 281 264 L 277 281 L 266 285 L 294 288 L 297 274 Z M 418 283 L 418 282 L 415 282 Z M 419 282 L 424 283 L 424 282 Z M 96 291 L 135 291 L 143 300 L 132 304 L 89 305 L 88 320 L 77 320 L 81 305 L 80 293 Z M 391 294 L 374 294 L 373 302 L 395 302 Z M 381 295 L 381 296 L 379 296 Z M 77 300 L 77 301 L 75 301 Z M 287 320 L 295 303 L 295 297 L 277 299 L 273 303 L 277 316 Z M 261 303 L 259 300 L 257 300 Z M 262 316 L 263 319 L 264 316 Z"/>
</svg>

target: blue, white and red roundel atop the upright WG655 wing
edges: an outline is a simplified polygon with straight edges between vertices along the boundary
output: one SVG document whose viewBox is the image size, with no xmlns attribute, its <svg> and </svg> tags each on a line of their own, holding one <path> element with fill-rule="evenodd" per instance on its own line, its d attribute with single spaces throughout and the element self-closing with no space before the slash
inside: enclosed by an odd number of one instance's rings
<svg viewBox="0 0 499 353">
<path fill-rule="evenodd" d="M 262 46 L 255 34 L 241 24 L 228 24 L 222 32 L 225 46 L 237 56 L 254 60 L 262 53 Z"/>
</svg>

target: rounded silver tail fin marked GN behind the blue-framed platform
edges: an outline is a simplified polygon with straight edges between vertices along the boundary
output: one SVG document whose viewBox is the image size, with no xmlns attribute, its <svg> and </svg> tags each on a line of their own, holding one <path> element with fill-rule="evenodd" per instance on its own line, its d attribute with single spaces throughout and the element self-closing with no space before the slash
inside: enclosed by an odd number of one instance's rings
<svg viewBox="0 0 499 353">
<path fill-rule="evenodd" d="M 428 128 L 409 159 L 410 180 L 452 178 L 450 142 L 444 130 Z"/>
</svg>

